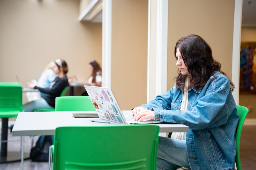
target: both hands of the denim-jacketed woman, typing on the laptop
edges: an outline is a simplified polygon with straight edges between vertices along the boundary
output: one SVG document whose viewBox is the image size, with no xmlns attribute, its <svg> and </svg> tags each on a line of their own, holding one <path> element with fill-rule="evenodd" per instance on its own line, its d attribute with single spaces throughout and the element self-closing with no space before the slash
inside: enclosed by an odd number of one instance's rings
<svg viewBox="0 0 256 170">
<path fill-rule="evenodd" d="M 142 121 L 143 119 L 154 120 L 155 113 L 154 111 L 145 109 L 144 107 L 136 107 L 131 111 L 131 114 L 134 115 L 135 121 Z"/>
</svg>

